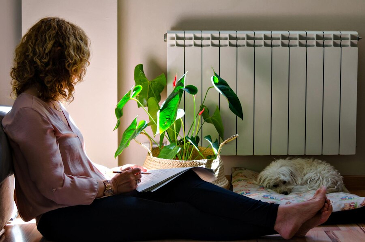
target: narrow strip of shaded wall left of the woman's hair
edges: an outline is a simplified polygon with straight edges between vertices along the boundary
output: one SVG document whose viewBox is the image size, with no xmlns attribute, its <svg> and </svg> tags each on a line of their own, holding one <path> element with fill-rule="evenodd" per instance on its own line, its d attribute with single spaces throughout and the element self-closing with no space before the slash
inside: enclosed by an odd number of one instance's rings
<svg viewBox="0 0 365 242">
<path fill-rule="evenodd" d="M 14 48 L 20 41 L 22 18 L 21 0 L 1 0 L 0 2 L 0 105 L 12 105 L 10 98 L 10 71 Z"/>
</svg>

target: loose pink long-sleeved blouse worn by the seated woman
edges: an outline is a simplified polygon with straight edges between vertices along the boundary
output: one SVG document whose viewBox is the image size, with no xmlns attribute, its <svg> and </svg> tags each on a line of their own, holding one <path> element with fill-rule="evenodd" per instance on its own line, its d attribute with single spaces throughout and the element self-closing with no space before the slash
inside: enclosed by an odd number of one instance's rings
<svg viewBox="0 0 365 242">
<path fill-rule="evenodd" d="M 9 137 L 15 169 L 14 200 L 24 221 L 72 205 L 88 205 L 104 175 L 85 153 L 84 139 L 69 113 L 30 94 L 20 94 L 2 125 Z"/>
</svg>

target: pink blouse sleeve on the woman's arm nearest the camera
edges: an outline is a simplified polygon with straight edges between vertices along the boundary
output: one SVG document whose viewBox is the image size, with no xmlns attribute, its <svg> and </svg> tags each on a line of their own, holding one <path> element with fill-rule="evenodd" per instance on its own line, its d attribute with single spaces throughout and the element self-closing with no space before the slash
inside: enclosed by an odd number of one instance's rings
<svg viewBox="0 0 365 242">
<path fill-rule="evenodd" d="M 20 109 L 7 127 L 26 160 L 29 177 L 46 198 L 62 205 L 88 205 L 99 184 L 94 178 L 65 174 L 53 125 L 31 108 Z"/>
</svg>

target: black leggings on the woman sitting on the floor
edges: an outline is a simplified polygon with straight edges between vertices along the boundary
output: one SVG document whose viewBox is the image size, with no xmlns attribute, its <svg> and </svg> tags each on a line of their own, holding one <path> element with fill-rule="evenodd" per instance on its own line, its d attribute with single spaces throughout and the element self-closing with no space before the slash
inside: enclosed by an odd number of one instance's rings
<svg viewBox="0 0 365 242">
<path fill-rule="evenodd" d="M 277 234 L 277 209 L 187 171 L 155 192 L 44 213 L 37 228 L 51 241 L 239 240 Z"/>
</svg>

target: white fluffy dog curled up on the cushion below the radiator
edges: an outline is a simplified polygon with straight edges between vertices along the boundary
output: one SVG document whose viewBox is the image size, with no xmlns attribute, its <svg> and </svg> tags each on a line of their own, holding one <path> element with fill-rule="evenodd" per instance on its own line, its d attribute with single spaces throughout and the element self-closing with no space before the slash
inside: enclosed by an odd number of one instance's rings
<svg viewBox="0 0 365 242">
<path fill-rule="evenodd" d="M 258 174 L 256 182 L 277 193 L 306 192 L 326 186 L 327 193 L 348 192 L 342 176 L 330 164 L 315 159 L 274 160 Z"/>
</svg>

